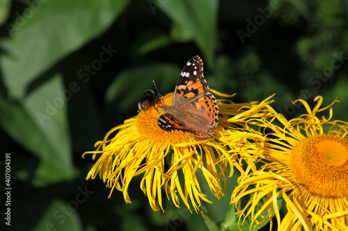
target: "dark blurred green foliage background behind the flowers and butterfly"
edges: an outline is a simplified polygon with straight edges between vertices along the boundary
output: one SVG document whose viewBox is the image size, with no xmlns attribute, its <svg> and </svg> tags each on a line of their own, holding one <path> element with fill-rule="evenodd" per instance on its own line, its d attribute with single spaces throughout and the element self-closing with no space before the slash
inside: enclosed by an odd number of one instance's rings
<svg viewBox="0 0 348 231">
<path fill-rule="evenodd" d="M 173 92 L 193 55 L 203 59 L 209 87 L 236 92 L 237 103 L 276 93 L 273 107 L 291 119 L 303 112 L 291 101 L 322 95 L 324 105 L 340 101 L 333 119 L 347 121 L 347 4 L 0 0 L 0 168 L 4 190 L 11 188 L 6 228 L 207 230 L 201 214 L 171 201 L 166 213 L 153 212 L 140 176 L 129 188 L 132 204 L 120 191 L 108 199 L 102 180 L 85 180 L 93 161 L 82 153 L 137 114 L 142 92 L 155 89 L 152 80 L 161 94 Z M 221 230 L 237 230 L 228 205 L 235 178 L 208 207 Z"/>
</svg>

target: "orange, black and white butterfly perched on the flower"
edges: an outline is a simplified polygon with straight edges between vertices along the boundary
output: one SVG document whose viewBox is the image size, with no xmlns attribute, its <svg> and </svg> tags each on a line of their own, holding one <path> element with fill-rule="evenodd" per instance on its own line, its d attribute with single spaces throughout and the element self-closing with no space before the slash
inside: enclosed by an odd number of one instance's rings
<svg viewBox="0 0 348 231">
<path fill-rule="evenodd" d="M 182 69 L 174 91 L 172 105 L 159 105 L 157 123 L 166 132 L 189 132 L 195 137 L 211 137 L 219 123 L 219 106 L 203 76 L 203 61 L 192 57 Z"/>
</svg>

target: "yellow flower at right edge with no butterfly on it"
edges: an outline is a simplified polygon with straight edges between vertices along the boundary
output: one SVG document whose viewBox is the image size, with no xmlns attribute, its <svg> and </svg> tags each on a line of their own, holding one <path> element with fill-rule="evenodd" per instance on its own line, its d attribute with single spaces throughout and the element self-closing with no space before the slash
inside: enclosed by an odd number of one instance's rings
<svg viewBox="0 0 348 231">
<path fill-rule="evenodd" d="M 267 217 L 271 220 L 273 208 L 278 230 L 348 230 L 348 123 L 330 121 L 335 102 L 320 108 L 322 100 L 321 96 L 315 98 L 313 110 L 306 101 L 298 100 L 308 113 L 290 121 L 269 106 L 274 113 L 271 121 L 248 121 L 260 126 L 260 131 L 267 128 L 271 132 L 264 143 L 257 144 L 260 152 L 255 162 L 262 166 L 242 176 L 232 193 L 231 203 L 236 207 L 244 196 L 251 196 L 238 212 L 244 219 L 251 216 L 260 225 Z M 327 109 L 329 119 L 319 119 L 316 114 Z M 280 197 L 287 209 L 283 219 Z"/>
</svg>

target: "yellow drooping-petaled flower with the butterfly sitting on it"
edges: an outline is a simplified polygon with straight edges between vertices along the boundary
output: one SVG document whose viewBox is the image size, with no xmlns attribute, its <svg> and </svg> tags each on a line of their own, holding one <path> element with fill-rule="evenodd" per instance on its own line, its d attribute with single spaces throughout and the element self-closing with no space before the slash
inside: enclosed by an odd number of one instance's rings
<svg viewBox="0 0 348 231">
<path fill-rule="evenodd" d="M 228 96 L 212 89 L 210 91 Z M 161 97 L 160 101 L 164 105 L 171 105 L 173 93 Z M 129 183 L 132 178 L 141 175 L 140 187 L 155 211 L 164 211 L 161 195 L 164 189 L 175 206 L 180 206 L 181 199 L 190 211 L 193 207 L 197 212 L 201 200 L 211 203 L 205 195 L 207 191 L 202 190 L 200 184 L 207 185 L 216 198 L 223 196 L 226 189 L 225 172 L 230 171 L 232 175 L 233 166 L 238 165 L 231 154 L 237 153 L 236 148 L 241 148 L 249 138 L 243 136 L 247 132 L 240 128 L 244 128 L 246 118 L 256 114 L 271 100 L 258 105 L 255 102 L 237 104 L 227 100 L 218 100 L 217 103 L 220 108 L 219 124 L 212 129 L 212 137 L 200 138 L 188 132 L 161 130 L 157 124 L 163 113 L 158 110 L 159 101 L 145 95 L 139 102 L 141 111 L 136 117 L 111 129 L 104 140 L 95 144 L 96 151 L 84 153 L 93 154 L 93 160 L 97 154 L 102 154 L 86 179 L 99 175 L 111 187 L 109 196 L 113 189 L 118 189 L 122 191 L 125 201 L 131 203 Z M 231 121 L 234 122 L 233 126 Z M 205 182 L 200 182 L 198 175 L 203 176 Z"/>
</svg>

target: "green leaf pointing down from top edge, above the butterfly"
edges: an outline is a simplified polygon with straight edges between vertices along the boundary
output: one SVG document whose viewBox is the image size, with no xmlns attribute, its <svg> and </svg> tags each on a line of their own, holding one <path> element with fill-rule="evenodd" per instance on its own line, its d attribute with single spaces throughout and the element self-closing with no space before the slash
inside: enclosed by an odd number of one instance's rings
<svg viewBox="0 0 348 231">
<path fill-rule="evenodd" d="M 157 0 L 156 6 L 171 17 L 175 24 L 190 31 L 207 64 L 214 65 L 216 49 L 217 12 L 216 0 Z M 155 6 L 155 7 L 156 7 Z M 152 12 L 156 8 L 152 6 Z"/>
</svg>

